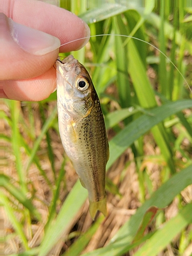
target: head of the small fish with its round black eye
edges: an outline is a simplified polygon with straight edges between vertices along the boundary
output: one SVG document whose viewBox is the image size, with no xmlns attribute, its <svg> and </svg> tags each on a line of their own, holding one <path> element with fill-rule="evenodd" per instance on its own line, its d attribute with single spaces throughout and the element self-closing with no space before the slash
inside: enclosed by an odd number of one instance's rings
<svg viewBox="0 0 192 256">
<path fill-rule="evenodd" d="M 57 97 L 74 117 L 85 117 L 93 108 L 95 89 L 86 68 L 72 55 L 56 61 Z"/>
</svg>

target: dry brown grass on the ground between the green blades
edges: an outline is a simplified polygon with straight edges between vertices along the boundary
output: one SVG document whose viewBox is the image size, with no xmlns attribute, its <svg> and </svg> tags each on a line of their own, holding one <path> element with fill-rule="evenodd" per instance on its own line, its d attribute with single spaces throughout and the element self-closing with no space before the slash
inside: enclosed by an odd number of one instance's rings
<svg viewBox="0 0 192 256">
<path fill-rule="evenodd" d="M 55 104 L 52 103 L 52 104 Z M 52 109 L 52 104 L 50 106 L 50 110 Z M 33 103 L 33 115 L 35 120 L 35 136 L 37 137 L 40 133 L 41 129 L 41 119 L 39 115 L 38 105 Z M 9 109 L 7 108 L 6 104 L 3 104 L 4 111 L 6 112 L 7 116 L 9 116 Z M 49 114 L 49 111 L 48 111 Z M 26 125 L 29 125 L 28 120 L 28 109 L 27 106 L 21 109 L 21 115 L 24 116 L 26 121 Z M 3 122 L 3 129 L 4 134 L 11 136 L 10 127 L 6 121 Z M 24 129 L 20 129 L 22 136 L 28 141 L 29 145 L 32 146 L 32 140 L 28 136 L 27 132 Z M 113 134 L 113 133 L 112 133 Z M 111 134 L 111 135 L 112 135 Z M 109 135 L 109 137 L 111 137 Z M 56 169 L 56 176 L 58 175 L 63 156 L 65 153 L 63 151 L 60 138 L 58 134 L 54 131 L 50 131 L 51 136 L 51 144 L 54 151 L 55 157 L 55 169 Z M 143 172 L 145 169 L 147 175 L 152 180 L 153 189 L 156 190 L 160 183 L 161 183 L 161 166 L 156 161 L 152 161 L 151 158 L 147 158 L 147 156 L 158 156 L 159 155 L 159 148 L 155 145 L 154 140 L 151 135 L 145 136 L 145 158 L 142 161 L 141 169 L 139 172 Z M 15 162 L 14 156 L 12 155 L 12 148 L 9 142 L 4 143 L 4 174 L 12 177 L 12 184 L 17 186 L 17 173 L 15 170 Z M 28 161 L 28 156 L 23 148 L 21 148 L 22 153 L 22 161 L 23 165 Z M 40 164 L 42 169 L 45 170 L 48 178 L 50 179 L 52 186 L 54 187 L 54 177 L 53 172 L 51 170 L 51 163 L 47 153 L 47 142 L 46 139 L 42 140 L 40 144 L 40 149 L 38 150 L 38 158 L 40 159 Z M 77 180 L 77 175 L 72 164 L 67 161 L 65 166 L 66 174 L 63 177 L 63 181 L 61 183 L 60 195 L 59 195 L 59 202 L 57 204 L 57 212 L 59 211 L 62 202 L 65 200 L 66 196 L 68 195 L 69 191 L 73 187 L 74 183 Z M 108 210 L 109 215 L 104 219 L 94 236 L 92 237 L 89 245 L 86 247 L 84 252 L 92 251 L 96 248 L 103 247 L 109 243 L 110 239 L 115 235 L 117 230 L 132 216 L 135 214 L 136 209 L 141 205 L 140 202 L 140 191 L 139 191 L 139 181 L 138 181 L 138 172 L 136 169 L 136 165 L 134 162 L 134 156 L 129 148 L 110 168 L 107 173 L 107 176 L 113 181 L 113 183 L 118 187 L 121 197 L 118 195 L 112 195 L 108 193 Z M 52 200 L 52 190 L 50 186 L 47 184 L 45 179 L 40 175 L 38 168 L 35 164 L 32 164 L 28 174 L 27 174 L 27 183 L 29 194 L 27 195 L 29 198 L 33 196 L 33 204 L 36 208 L 38 208 L 41 216 L 42 222 L 37 222 L 35 219 L 31 220 L 31 224 L 23 223 L 25 234 L 29 241 L 30 247 L 36 247 L 40 244 L 42 237 L 44 236 L 44 226 L 48 219 L 49 211 L 48 206 Z M 185 198 L 186 201 L 190 201 L 192 198 L 191 187 L 187 188 L 183 191 L 182 196 Z M 149 194 L 146 190 L 146 198 L 149 197 Z M 13 205 L 18 207 L 20 210 L 20 214 L 15 211 L 15 215 L 20 221 L 23 221 L 23 214 L 21 212 L 24 210 L 23 206 L 15 201 L 13 197 L 11 197 L 13 201 Z M 89 203 L 88 201 L 84 204 L 82 209 L 79 211 L 78 215 L 76 216 L 74 222 L 71 225 L 71 229 L 68 230 L 68 233 L 65 233 L 55 246 L 55 248 L 49 253 L 49 255 L 59 255 L 61 252 L 65 252 L 68 247 L 76 240 L 76 238 L 68 239 L 68 235 L 71 231 L 79 233 L 83 233 L 89 229 L 92 224 L 92 219 L 89 215 Z M 178 212 L 178 200 L 177 198 L 173 201 L 173 203 L 166 208 L 165 216 L 168 219 L 175 216 Z M 20 245 L 19 239 L 14 234 L 13 227 L 8 220 L 8 217 L 4 214 L 1 216 L 1 223 L 4 223 L 4 231 L 8 235 L 9 239 L 6 241 L 6 247 L 4 248 L 6 254 L 10 254 L 13 252 L 19 252 L 22 250 Z M 29 228 L 30 226 L 30 228 Z M 78 237 L 78 236 L 77 236 Z M 62 241 L 63 240 L 63 241 Z M 126 255 L 133 255 L 132 252 Z M 166 255 L 166 253 L 164 254 Z M 169 254 L 170 255 L 170 254 Z"/>
</svg>

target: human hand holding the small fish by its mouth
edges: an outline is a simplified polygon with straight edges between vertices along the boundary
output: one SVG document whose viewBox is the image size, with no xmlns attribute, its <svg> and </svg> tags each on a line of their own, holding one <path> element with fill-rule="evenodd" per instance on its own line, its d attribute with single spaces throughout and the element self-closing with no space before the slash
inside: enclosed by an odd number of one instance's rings
<svg viewBox="0 0 192 256">
<path fill-rule="evenodd" d="M 89 36 L 90 31 L 80 18 L 56 6 L 1 0 L 0 34 L 0 98 L 39 101 L 56 87 L 53 65 L 59 51 L 78 50 L 89 38 L 60 44 Z"/>
</svg>

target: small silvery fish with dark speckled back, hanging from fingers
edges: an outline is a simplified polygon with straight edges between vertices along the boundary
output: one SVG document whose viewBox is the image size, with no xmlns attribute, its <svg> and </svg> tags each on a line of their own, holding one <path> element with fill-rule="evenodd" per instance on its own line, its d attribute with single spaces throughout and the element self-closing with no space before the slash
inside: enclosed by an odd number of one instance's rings
<svg viewBox="0 0 192 256">
<path fill-rule="evenodd" d="M 57 110 L 63 148 L 88 190 L 89 211 L 106 209 L 105 168 L 109 143 L 98 95 L 91 77 L 73 55 L 56 60 Z"/>
</svg>

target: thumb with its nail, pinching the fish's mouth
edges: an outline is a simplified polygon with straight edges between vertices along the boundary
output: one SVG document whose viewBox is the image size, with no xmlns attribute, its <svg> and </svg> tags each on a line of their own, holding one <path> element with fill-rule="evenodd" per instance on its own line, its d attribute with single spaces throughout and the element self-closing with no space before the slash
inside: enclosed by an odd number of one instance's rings
<svg viewBox="0 0 192 256">
<path fill-rule="evenodd" d="M 54 65 L 58 38 L 15 23 L 4 13 L 0 13 L 0 34 L 0 80 L 37 77 Z"/>
</svg>

